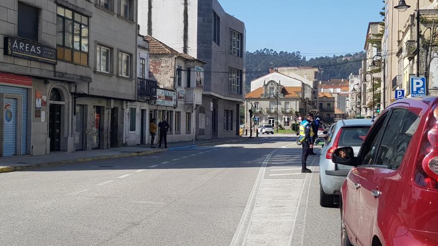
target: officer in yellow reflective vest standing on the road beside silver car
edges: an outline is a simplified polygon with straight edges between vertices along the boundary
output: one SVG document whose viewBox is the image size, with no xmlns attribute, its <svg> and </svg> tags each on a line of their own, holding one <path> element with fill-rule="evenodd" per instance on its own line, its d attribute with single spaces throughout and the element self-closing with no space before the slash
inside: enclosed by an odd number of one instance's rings
<svg viewBox="0 0 438 246">
<path fill-rule="evenodd" d="M 308 113 L 306 119 L 300 124 L 300 137 L 302 138 L 303 156 L 301 158 L 301 172 L 312 172 L 307 168 L 307 158 L 309 157 L 310 149 L 313 148 L 314 131 L 312 129 L 313 114 Z"/>
</svg>

